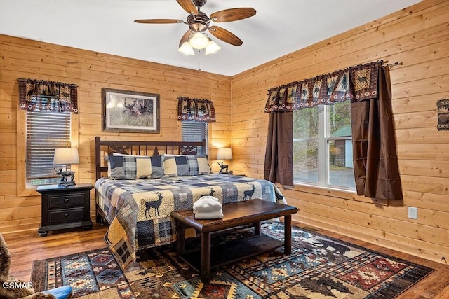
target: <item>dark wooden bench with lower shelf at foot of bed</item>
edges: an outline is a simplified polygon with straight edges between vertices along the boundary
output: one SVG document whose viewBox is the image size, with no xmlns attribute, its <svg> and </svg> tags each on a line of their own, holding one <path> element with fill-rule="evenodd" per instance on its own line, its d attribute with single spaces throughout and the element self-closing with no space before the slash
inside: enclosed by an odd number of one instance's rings
<svg viewBox="0 0 449 299">
<path fill-rule="evenodd" d="M 291 253 L 292 225 L 291 215 L 297 208 L 286 204 L 277 204 L 266 200 L 247 200 L 223 204 L 222 219 L 196 219 L 192 210 L 172 211 L 177 232 L 177 256 L 182 258 L 195 270 L 200 272 L 201 281 L 210 281 L 210 270 L 214 267 L 233 263 L 236 260 L 257 256 L 284 246 L 284 253 Z M 260 234 L 260 222 L 277 217 L 284 217 L 284 242 Z M 228 242 L 220 246 L 210 246 L 210 233 L 241 225 L 254 225 L 255 235 Z M 185 251 L 185 228 L 194 228 L 201 235 L 201 251 Z"/>
</svg>

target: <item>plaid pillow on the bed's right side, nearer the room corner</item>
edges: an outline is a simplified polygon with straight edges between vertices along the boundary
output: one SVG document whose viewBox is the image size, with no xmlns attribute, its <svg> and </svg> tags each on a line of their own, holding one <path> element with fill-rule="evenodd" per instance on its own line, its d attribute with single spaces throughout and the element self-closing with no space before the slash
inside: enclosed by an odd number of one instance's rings
<svg viewBox="0 0 449 299">
<path fill-rule="evenodd" d="M 162 155 L 166 176 L 196 176 L 210 174 L 207 155 Z"/>
</svg>

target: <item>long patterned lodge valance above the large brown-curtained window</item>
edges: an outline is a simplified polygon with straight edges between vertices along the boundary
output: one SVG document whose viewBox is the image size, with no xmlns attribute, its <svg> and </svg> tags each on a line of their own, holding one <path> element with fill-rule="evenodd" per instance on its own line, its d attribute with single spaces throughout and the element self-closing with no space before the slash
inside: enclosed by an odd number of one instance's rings
<svg viewBox="0 0 449 299">
<path fill-rule="evenodd" d="M 319 104 L 376 98 L 382 63 L 370 62 L 271 88 L 268 90 L 265 112 L 293 111 Z"/>
</svg>

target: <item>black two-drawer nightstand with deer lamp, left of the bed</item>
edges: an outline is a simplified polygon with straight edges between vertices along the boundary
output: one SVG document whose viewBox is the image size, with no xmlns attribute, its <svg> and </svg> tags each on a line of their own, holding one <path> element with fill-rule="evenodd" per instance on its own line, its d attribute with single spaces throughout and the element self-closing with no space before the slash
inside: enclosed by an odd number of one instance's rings
<svg viewBox="0 0 449 299">
<path fill-rule="evenodd" d="M 37 187 L 41 193 L 41 226 L 39 235 L 46 236 L 48 230 L 65 228 L 92 228 L 90 183 L 73 186 L 44 185 Z"/>
</svg>

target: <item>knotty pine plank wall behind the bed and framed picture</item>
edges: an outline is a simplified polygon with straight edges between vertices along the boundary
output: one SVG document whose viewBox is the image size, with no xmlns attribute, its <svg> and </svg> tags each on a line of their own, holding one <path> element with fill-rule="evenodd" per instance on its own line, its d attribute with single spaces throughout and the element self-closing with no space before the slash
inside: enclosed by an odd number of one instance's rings
<svg viewBox="0 0 449 299">
<path fill-rule="evenodd" d="M 215 157 L 216 147 L 231 144 L 229 76 L 0 35 L 0 232 L 37 230 L 41 218 L 38 193 L 34 191 L 32 196 L 16 196 L 18 78 L 79 85 L 79 127 L 75 130 L 79 131 L 80 164 L 76 179 L 80 183 L 95 183 L 95 136 L 125 140 L 180 140 L 178 96 L 214 102 L 217 123 L 209 126 L 211 157 Z M 159 94 L 161 133 L 102 132 L 101 88 Z M 219 169 L 215 161 L 211 166 Z M 94 192 L 91 195 L 91 214 L 94 215 Z"/>
</svg>

